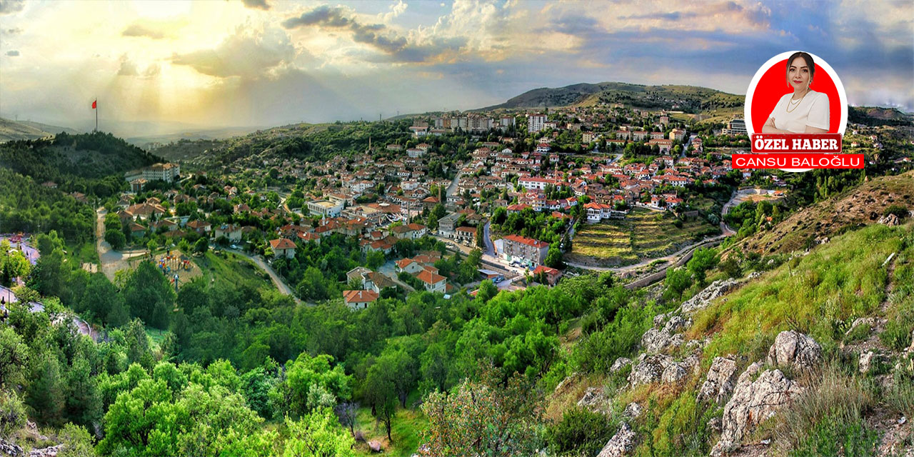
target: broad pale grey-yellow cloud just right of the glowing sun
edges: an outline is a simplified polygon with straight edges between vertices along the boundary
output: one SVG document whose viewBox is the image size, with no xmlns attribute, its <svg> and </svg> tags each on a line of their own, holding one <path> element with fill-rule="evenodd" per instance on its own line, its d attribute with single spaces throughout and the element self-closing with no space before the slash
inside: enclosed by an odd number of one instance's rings
<svg viewBox="0 0 914 457">
<path fill-rule="evenodd" d="M 209 76 L 250 79 L 268 74 L 271 69 L 292 61 L 295 55 L 289 36 L 282 30 L 276 27 L 251 30 L 240 26 L 216 48 L 175 53 L 171 61 Z"/>
</svg>

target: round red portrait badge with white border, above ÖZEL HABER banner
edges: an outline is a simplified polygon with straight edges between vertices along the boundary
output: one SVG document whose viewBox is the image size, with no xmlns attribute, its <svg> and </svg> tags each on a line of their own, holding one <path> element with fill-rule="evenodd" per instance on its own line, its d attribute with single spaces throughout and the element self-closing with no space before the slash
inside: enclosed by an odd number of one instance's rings
<svg viewBox="0 0 914 457">
<path fill-rule="evenodd" d="M 746 130 L 766 124 L 783 133 L 845 133 L 847 95 L 834 69 L 814 54 L 789 51 L 768 59 L 746 90 Z"/>
</svg>

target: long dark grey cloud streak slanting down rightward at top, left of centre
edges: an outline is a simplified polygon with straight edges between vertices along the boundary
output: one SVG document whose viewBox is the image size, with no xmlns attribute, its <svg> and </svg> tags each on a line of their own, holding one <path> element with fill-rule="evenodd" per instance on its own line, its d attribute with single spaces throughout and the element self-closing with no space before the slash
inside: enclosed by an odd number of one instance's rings
<svg viewBox="0 0 914 457">
<path fill-rule="evenodd" d="M 393 6 L 396 11 L 405 9 L 399 4 Z M 424 62 L 441 53 L 460 48 L 465 43 L 464 38 L 441 37 L 434 43 L 410 43 L 407 37 L 399 35 L 384 24 L 364 24 L 359 21 L 348 9 L 343 6 L 317 6 L 310 11 L 305 11 L 301 16 L 290 17 L 282 21 L 282 27 L 319 27 L 337 30 L 347 30 L 356 43 L 363 43 L 376 48 L 388 58 L 368 58 L 373 61 L 394 60 L 400 62 Z"/>
</svg>

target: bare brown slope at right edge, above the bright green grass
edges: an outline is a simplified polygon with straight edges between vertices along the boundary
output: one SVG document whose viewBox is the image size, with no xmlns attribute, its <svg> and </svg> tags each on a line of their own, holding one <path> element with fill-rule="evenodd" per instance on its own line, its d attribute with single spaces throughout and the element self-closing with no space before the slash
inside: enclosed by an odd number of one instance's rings
<svg viewBox="0 0 914 457">
<path fill-rule="evenodd" d="M 886 207 L 892 205 L 914 209 L 914 171 L 870 179 L 838 196 L 802 208 L 781 224 L 743 239 L 737 246 L 763 254 L 801 250 L 813 245 L 816 239 L 876 223 Z"/>
</svg>

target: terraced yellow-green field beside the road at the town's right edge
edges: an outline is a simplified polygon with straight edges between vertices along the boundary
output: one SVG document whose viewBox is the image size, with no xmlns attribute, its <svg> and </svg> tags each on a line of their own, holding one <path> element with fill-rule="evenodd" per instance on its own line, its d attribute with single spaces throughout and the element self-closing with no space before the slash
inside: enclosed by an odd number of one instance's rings
<svg viewBox="0 0 914 457">
<path fill-rule="evenodd" d="M 576 234 L 570 261 L 596 260 L 601 265 L 627 265 L 661 257 L 701 239 L 716 228 L 705 218 L 689 218 L 675 226 L 669 212 L 634 208 L 624 219 L 584 225 Z"/>
</svg>

